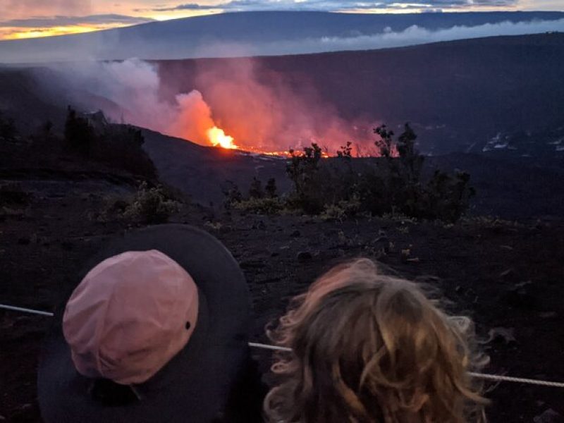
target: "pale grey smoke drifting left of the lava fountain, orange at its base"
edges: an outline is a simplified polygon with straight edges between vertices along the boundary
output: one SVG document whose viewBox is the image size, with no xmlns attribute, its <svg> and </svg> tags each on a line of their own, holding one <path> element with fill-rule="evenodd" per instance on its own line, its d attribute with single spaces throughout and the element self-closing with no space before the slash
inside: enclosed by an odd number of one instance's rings
<svg viewBox="0 0 564 423">
<path fill-rule="evenodd" d="M 66 82 L 68 101 L 83 108 L 100 108 L 111 121 L 130 123 L 166 135 L 207 144 L 214 126 L 202 94 L 192 90 L 161 98 L 157 67 L 147 61 L 82 62 L 52 67 Z"/>
</svg>

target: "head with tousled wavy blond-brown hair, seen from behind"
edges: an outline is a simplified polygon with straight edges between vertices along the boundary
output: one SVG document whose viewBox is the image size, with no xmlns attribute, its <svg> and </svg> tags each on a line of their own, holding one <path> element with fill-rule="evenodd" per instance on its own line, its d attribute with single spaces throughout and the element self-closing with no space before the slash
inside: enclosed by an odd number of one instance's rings
<svg viewBox="0 0 564 423">
<path fill-rule="evenodd" d="M 484 363 L 472 324 L 448 317 L 415 283 L 367 259 L 336 266 L 269 332 L 293 353 L 265 400 L 272 422 L 462 423 L 485 400 L 467 372 Z"/>
</svg>

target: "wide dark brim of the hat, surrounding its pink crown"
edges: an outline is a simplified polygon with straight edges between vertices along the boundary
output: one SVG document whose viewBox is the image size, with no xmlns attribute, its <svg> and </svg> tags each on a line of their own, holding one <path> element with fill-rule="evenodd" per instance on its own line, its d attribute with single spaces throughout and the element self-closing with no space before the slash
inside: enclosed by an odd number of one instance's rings
<svg viewBox="0 0 564 423">
<path fill-rule="evenodd" d="M 109 407 L 92 398 L 92 379 L 78 373 L 56 313 L 39 360 L 37 391 L 46 422 L 214 422 L 247 359 L 250 298 L 238 263 L 219 240 L 185 225 L 127 233 L 85 266 L 127 251 L 159 250 L 195 281 L 200 297 L 190 341 L 157 374 L 135 386 L 140 400 Z"/>
</svg>

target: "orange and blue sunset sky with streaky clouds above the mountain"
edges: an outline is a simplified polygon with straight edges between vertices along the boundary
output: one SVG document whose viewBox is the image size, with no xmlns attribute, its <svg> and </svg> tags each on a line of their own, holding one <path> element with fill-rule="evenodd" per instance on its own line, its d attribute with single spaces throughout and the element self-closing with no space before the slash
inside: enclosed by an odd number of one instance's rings
<svg viewBox="0 0 564 423">
<path fill-rule="evenodd" d="M 564 0 L 0 0 L 0 39 L 47 37 L 227 11 L 564 11 Z"/>
</svg>

